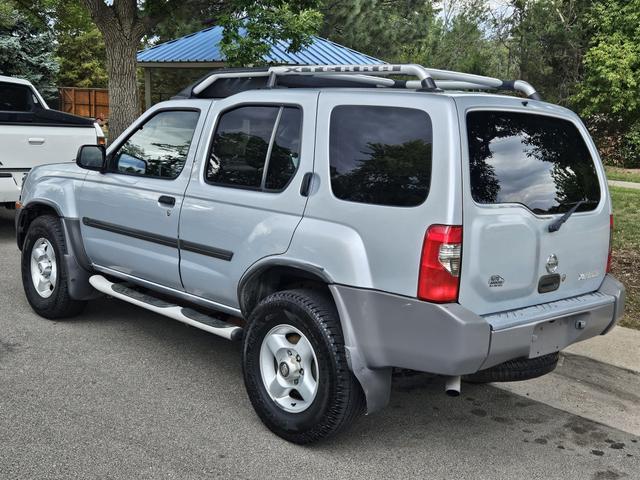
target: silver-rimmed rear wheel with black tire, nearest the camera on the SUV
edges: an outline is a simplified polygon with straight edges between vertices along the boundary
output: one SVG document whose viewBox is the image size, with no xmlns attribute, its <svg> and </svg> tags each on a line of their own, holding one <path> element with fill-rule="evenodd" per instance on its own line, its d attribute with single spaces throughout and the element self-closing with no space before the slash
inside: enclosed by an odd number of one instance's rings
<svg viewBox="0 0 640 480">
<path fill-rule="evenodd" d="M 242 352 L 253 408 L 287 441 L 329 437 L 363 411 L 338 313 L 326 294 L 287 290 L 266 297 L 249 318 Z"/>
</svg>

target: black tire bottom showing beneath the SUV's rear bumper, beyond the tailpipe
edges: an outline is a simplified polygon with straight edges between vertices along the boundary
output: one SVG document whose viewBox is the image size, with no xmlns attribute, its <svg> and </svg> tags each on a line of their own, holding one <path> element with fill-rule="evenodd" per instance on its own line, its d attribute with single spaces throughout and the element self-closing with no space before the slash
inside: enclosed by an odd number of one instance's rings
<svg viewBox="0 0 640 480">
<path fill-rule="evenodd" d="M 560 353 L 550 353 L 537 358 L 509 360 L 486 370 L 463 377 L 469 383 L 519 382 L 541 377 L 555 370 Z"/>
</svg>

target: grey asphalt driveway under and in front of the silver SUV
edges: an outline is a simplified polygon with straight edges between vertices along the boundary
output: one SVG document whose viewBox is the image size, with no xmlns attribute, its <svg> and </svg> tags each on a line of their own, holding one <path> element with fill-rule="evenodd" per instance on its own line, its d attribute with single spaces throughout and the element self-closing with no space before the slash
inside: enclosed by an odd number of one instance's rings
<svg viewBox="0 0 640 480">
<path fill-rule="evenodd" d="M 464 385 L 451 399 L 421 376 L 398 379 L 391 405 L 345 434 L 288 444 L 253 413 L 238 343 L 113 299 L 72 321 L 37 317 L 12 222 L 0 213 L 3 480 L 640 478 L 640 438 L 606 415 L 587 420 L 573 400 L 555 408 L 493 386 Z M 580 362 L 567 357 L 559 374 L 593 370 Z M 636 378 L 599 368 L 620 383 Z"/>
</svg>

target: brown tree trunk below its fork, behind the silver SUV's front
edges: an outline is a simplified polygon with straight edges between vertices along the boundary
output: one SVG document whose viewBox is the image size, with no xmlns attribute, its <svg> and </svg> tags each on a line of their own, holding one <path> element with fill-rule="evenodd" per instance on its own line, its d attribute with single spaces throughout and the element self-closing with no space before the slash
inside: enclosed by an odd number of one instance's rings
<svg viewBox="0 0 640 480">
<path fill-rule="evenodd" d="M 136 74 L 140 39 L 123 38 L 120 32 L 103 35 L 109 76 L 109 142 L 112 142 L 140 115 Z"/>
</svg>

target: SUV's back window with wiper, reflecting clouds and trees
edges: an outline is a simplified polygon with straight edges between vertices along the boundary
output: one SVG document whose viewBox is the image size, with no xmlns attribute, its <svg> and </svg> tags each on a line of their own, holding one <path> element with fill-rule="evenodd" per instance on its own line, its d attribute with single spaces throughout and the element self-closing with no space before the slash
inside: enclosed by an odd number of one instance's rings
<svg viewBox="0 0 640 480">
<path fill-rule="evenodd" d="M 467 114 L 471 194 L 478 203 L 520 203 L 536 214 L 596 208 L 600 183 L 576 126 L 516 112 Z"/>
</svg>

